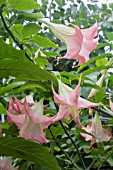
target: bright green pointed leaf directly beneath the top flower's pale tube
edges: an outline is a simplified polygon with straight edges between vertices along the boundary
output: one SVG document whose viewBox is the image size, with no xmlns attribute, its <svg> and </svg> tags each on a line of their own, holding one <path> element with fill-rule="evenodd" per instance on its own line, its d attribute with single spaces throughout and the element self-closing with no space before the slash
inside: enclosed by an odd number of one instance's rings
<svg viewBox="0 0 113 170">
<path fill-rule="evenodd" d="M 50 39 L 48 39 L 47 37 L 43 37 L 41 35 L 34 35 L 32 40 L 38 44 L 40 47 L 44 47 L 44 48 L 50 48 L 50 47 L 54 47 L 54 48 L 59 48 L 54 42 L 52 42 Z"/>
</svg>

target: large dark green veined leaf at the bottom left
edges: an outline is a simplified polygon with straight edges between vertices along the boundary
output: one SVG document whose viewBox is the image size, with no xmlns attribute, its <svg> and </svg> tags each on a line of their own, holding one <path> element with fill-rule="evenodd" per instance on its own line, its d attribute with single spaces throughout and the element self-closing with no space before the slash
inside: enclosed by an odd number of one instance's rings
<svg viewBox="0 0 113 170">
<path fill-rule="evenodd" d="M 50 170 L 60 170 L 55 158 L 48 150 L 37 144 L 18 137 L 4 137 L 0 139 L 0 154 L 21 158 Z"/>
</svg>

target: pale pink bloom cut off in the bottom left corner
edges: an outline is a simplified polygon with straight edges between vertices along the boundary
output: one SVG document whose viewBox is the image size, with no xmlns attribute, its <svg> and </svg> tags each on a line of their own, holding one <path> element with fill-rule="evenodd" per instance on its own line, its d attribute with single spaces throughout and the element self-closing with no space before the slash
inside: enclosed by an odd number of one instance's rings
<svg viewBox="0 0 113 170">
<path fill-rule="evenodd" d="M 18 168 L 13 167 L 11 157 L 4 157 L 0 160 L 0 170 L 18 170 Z"/>
</svg>

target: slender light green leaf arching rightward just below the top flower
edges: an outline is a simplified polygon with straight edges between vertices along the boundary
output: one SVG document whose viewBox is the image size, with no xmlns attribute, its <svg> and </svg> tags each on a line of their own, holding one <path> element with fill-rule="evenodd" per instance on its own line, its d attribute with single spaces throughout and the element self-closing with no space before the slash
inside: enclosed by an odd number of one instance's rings
<svg viewBox="0 0 113 170">
<path fill-rule="evenodd" d="M 81 65 L 81 66 L 78 68 L 77 73 L 79 73 L 83 68 L 87 67 L 89 64 L 91 64 L 91 63 L 93 63 L 93 62 L 95 62 L 95 61 L 97 61 L 97 60 L 99 60 L 99 59 L 101 59 L 101 58 L 105 58 L 105 57 L 111 58 L 111 57 L 112 57 L 112 54 L 110 54 L 110 53 L 101 54 L 101 55 L 99 55 L 99 56 L 97 56 L 97 57 L 94 57 L 94 58 L 88 60 L 85 64 Z"/>
</svg>

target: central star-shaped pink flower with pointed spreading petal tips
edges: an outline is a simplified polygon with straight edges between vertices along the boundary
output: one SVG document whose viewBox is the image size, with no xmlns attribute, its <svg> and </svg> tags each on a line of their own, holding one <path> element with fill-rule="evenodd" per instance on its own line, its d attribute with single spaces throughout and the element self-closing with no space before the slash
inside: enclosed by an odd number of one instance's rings
<svg viewBox="0 0 113 170">
<path fill-rule="evenodd" d="M 80 81 L 81 79 L 79 80 L 77 87 L 75 89 L 72 89 L 71 87 L 62 83 L 61 80 L 58 80 L 59 94 L 57 94 L 54 90 L 54 87 L 52 87 L 54 101 L 55 103 L 60 104 L 59 111 L 56 117 L 53 118 L 53 121 L 58 121 L 61 119 L 69 120 L 70 115 L 72 115 L 78 126 L 81 126 L 78 110 L 99 106 L 99 104 L 92 103 L 79 96 Z"/>
</svg>

